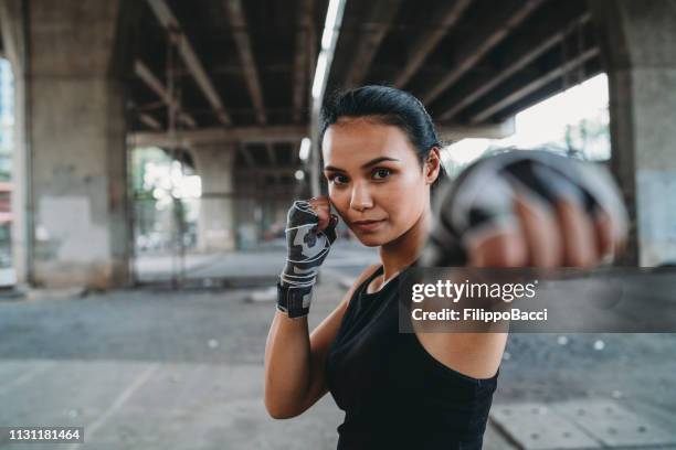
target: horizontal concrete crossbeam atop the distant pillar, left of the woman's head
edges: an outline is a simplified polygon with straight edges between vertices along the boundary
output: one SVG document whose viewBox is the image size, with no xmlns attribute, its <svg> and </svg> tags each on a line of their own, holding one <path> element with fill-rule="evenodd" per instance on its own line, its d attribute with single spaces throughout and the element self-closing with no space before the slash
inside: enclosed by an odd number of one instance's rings
<svg viewBox="0 0 676 450">
<path fill-rule="evenodd" d="M 176 138 L 166 132 L 138 131 L 127 135 L 130 144 L 181 147 L 219 142 L 294 142 L 307 136 L 306 126 L 253 126 L 231 128 L 197 128 L 177 130 Z"/>
</svg>

